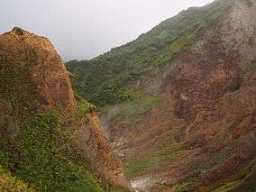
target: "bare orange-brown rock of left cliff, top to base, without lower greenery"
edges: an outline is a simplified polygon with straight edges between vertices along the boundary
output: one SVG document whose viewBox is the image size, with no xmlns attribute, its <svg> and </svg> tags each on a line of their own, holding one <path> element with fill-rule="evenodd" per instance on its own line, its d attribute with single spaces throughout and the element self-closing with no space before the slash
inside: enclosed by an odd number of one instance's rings
<svg viewBox="0 0 256 192">
<path fill-rule="evenodd" d="M 14 144 L 10 151 L 14 156 L 22 155 L 17 144 L 22 124 L 31 123 L 23 123 L 23 119 L 49 110 L 57 111 L 59 148 L 67 150 L 70 160 L 87 167 L 110 187 L 131 190 L 120 160 L 114 157 L 101 133 L 96 113 L 87 109 L 78 115 L 79 102 L 68 72 L 49 40 L 20 28 L 0 36 L 0 93 L 0 141 Z M 15 166 L 12 172 L 15 173 Z"/>
</svg>

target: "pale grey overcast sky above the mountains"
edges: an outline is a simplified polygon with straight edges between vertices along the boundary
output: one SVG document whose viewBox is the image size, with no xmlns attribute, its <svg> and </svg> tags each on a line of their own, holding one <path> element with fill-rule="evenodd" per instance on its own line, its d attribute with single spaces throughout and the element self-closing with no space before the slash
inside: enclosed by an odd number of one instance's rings
<svg viewBox="0 0 256 192">
<path fill-rule="evenodd" d="M 62 58 L 91 59 L 136 39 L 190 6 L 212 0 L 0 0 L 0 32 L 46 36 Z"/>
</svg>

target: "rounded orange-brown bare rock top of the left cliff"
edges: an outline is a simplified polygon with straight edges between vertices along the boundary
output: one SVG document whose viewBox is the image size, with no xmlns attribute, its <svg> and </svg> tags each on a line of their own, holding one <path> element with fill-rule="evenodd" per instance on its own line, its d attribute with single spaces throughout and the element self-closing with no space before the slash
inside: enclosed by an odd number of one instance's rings
<svg viewBox="0 0 256 192">
<path fill-rule="evenodd" d="M 26 105 L 31 102 L 30 96 L 36 96 L 40 102 L 38 108 L 59 105 L 63 109 L 75 109 L 67 70 L 49 40 L 14 28 L 0 36 L 0 57 L 1 69 L 13 73 L 10 80 Z"/>
</svg>

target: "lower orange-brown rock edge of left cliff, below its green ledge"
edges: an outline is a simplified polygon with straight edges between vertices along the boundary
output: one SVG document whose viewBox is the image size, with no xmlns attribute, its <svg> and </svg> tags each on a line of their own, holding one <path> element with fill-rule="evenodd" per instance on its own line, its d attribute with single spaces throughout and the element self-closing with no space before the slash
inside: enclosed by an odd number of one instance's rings
<svg viewBox="0 0 256 192">
<path fill-rule="evenodd" d="M 132 190 L 123 174 L 123 164 L 118 160 L 102 133 L 98 116 L 90 112 L 87 116 L 74 121 L 66 119 L 65 129 L 69 138 L 67 150 L 76 160 L 90 165 L 91 170 L 113 186 Z"/>
</svg>

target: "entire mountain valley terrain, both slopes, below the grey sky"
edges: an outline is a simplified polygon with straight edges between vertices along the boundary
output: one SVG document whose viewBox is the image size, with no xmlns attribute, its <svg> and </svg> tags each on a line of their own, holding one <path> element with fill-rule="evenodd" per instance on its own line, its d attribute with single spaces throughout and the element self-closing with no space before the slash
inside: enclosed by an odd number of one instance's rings
<svg viewBox="0 0 256 192">
<path fill-rule="evenodd" d="M 0 35 L 0 191 L 254 192 L 256 0 L 191 7 L 94 59 Z"/>
</svg>

